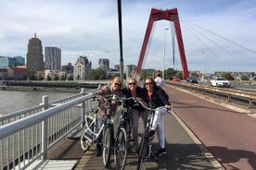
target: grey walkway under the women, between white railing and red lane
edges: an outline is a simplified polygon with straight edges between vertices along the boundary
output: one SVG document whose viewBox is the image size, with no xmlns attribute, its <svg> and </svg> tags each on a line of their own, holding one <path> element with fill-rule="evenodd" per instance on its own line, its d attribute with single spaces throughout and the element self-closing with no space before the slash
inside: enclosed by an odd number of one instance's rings
<svg viewBox="0 0 256 170">
<path fill-rule="evenodd" d="M 167 154 L 157 157 L 157 160 L 154 158 L 147 159 L 143 164 L 143 169 L 223 169 L 177 115 L 174 113 L 173 115 L 166 115 L 164 123 Z M 95 150 L 96 147 L 93 147 L 88 152 L 82 152 L 80 139 L 73 137 L 62 140 L 58 147 L 49 152 L 48 158 L 52 160 L 77 160 L 77 164 L 73 167 L 75 170 L 106 169 L 103 166 L 102 157 L 95 156 Z M 159 150 L 158 138 L 154 139 L 153 150 L 156 152 Z M 125 169 L 135 169 L 136 165 L 137 155 L 130 153 Z M 115 169 L 113 156 L 109 169 Z"/>
</svg>

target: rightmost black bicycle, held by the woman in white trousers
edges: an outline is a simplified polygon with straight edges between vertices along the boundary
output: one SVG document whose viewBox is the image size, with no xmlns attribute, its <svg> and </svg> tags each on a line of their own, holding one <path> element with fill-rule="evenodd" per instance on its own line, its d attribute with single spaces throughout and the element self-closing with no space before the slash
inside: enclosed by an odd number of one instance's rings
<svg viewBox="0 0 256 170">
<path fill-rule="evenodd" d="M 147 127 L 145 129 L 145 132 L 142 134 L 142 139 L 141 139 L 140 147 L 139 147 L 137 170 L 140 170 L 142 168 L 142 164 L 146 158 L 153 156 L 155 158 L 155 160 L 157 160 L 155 153 L 152 151 L 151 141 L 153 140 L 153 138 L 150 137 L 149 131 L 152 128 L 155 112 L 157 110 L 163 109 L 163 108 L 158 107 L 155 109 L 155 108 L 147 107 L 140 101 L 137 101 L 137 102 L 140 103 L 142 105 L 142 107 L 144 107 L 145 109 L 147 109 L 149 111 L 149 115 L 147 117 Z M 168 113 L 171 113 L 171 110 L 167 110 L 167 109 L 164 109 L 164 110 Z"/>
</svg>

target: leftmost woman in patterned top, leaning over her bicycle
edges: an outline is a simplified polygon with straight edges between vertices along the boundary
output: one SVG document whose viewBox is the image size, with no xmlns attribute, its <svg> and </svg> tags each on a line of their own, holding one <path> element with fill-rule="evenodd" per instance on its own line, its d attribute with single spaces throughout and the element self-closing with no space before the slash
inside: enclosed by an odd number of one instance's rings
<svg viewBox="0 0 256 170">
<path fill-rule="evenodd" d="M 121 91 L 121 87 L 122 87 L 122 80 L 119 77 L 115 77 L 112 80 L 111 87 L 104 86 L 101 91 L 96 92 L 96 96 L 104 97 L 106 95 L 114 94 L 122 97 L 123 93 Z M 118 110 L 118 105 L 119 103 L 117 103 L 116 101 L 111 101 L 110 113 L 112 116 L 116 114 Z M 100 128 L 107 116 L 107 101 L 101 101 L 98 103 L 97 116 L 98 116 L 97 118 L 98 128 Z M 113 131 L 113 125 L 111 126 L 111 130 Z M 112 139 L 114 139 L 114 137 L 112 137 Z M 100 135 L 100 137 L 97 139 L 97 144 L 96 144 L 96 156 L 100 156 L 101 154 L 102 154 L 102 135 Z"/>
</svg>

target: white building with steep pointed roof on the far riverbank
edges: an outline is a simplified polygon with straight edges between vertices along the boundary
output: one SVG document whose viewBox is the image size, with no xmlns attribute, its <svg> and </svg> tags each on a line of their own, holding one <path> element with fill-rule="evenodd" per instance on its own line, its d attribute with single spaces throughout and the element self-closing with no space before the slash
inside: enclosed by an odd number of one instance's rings
<svg viewBox="0 0 256 170">
<path fill-rule="evenodd" d="M 87 79 L 91 69 L 92 62 L 89 62 L 87 56 L 79 56 L 74 66 L 74 79 Z"/>
</svg>

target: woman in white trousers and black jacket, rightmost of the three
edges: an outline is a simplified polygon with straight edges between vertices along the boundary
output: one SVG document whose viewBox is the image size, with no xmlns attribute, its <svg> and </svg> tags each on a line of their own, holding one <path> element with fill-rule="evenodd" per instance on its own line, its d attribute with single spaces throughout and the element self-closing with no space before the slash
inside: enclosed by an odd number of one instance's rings
<svg viewBox="0 0 256 170">
<path fill-rule="evenodd" d="M 172 106 L 171 103 L 164 97 L 165 92 L 156 85 L 153 78 L 145 79 L 145 88 L 147 99 L 149 101 L 149 105 L 153 106 L 154 108 L 163 108 L 158 109 L 155 112 L 155 117 L 153 120 L 153 125 L 150 130 L 150 137 L 153 137 L 155 134 L 155 130 L 158 130 L 158 137 L 160 140 L 160 150 L 158 155 L 166 154 L 165 150 L 165 141 L 164 141 L 164 129 L 163 129 L 163 115 L 166 115 L 166 109 L 171 110 Z"/>
</svg>

